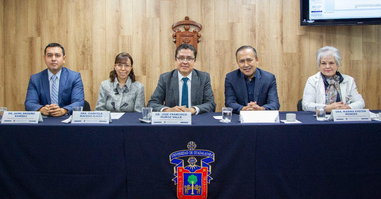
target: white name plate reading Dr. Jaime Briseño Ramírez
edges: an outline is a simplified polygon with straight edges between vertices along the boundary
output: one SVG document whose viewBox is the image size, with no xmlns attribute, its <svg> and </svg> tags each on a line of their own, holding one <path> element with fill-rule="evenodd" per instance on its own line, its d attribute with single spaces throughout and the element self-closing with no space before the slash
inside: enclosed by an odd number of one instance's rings
<svg viewBox="0 0 381 199">
<path fill-rule="evenodd" d="M 5 111 L 2 123 L 35 123 L 42 122 L 40 111 Z"/>
</svg>

